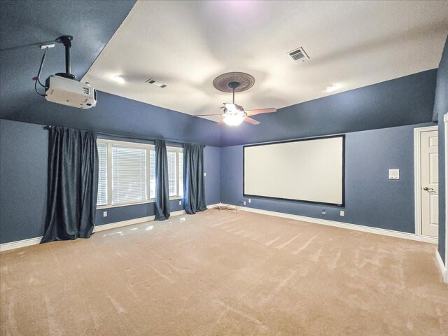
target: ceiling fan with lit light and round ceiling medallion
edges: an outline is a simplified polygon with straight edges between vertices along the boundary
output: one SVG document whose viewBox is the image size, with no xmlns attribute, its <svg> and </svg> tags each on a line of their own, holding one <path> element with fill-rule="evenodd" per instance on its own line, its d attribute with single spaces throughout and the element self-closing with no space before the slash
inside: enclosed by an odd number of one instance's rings
<svg viewBox="0 0 448 336">
<path fill-rule="evenodd" d="M 241 80 L 241 83 L 237 80 Z M 232 80 L 232 81 L 229 81 Z M 209 117 L 209 116 L 224 116 L 223 120 L 221 120 L 218 124 L 226 123 L 230 126 L 237 126 L 241 124 L 243 121 L 246 123 L 251 123 L 252 125 L 258 125 L 260 122 L 250 118 L 251 116 L 255 116 L 257 114 L 262 113 L 272 113 L 276 112 L 277 109 L 268 108 L 268 109 L 257 109 L 257 110 L 244 110 L 244 107 L 238 104 L 235 104 L 235 90 L 238 91 L 247 90 L 249 87 L 253 85 L 255 79 L 248 75 L 248 73 L 241 72 L 233 72 L 233 73 L 224 73 L 221 76 L 218 76 L 214 80 L 214 86 L 216 89 L 223 92 L 230 92 L 232 90 L 232 103 L 224 103 L 224 106 L 221 107 L 223 109 L 223 113 L 216 114 L 202 114 L 198 117 Z M 227 86 L 227 87 L 225 87 Z"/>
</svg>

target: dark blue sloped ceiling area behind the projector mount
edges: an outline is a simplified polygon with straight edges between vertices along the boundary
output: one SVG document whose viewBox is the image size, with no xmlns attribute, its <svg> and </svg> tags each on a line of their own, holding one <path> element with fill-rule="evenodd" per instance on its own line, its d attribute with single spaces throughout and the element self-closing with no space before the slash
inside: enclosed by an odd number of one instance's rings
<svg viewBox="0 0 448 336">
<path fill-rule="evenodd" d="M 78 79 L 97 58 L 135 1 L 0 1 L 0 118 L 28 121 L 45 102 L 34 92 L 41 42 L 73 35 L 71 70 Z M 41 78 L 64 72 L 64 47 L 48 50 Z"/>
</svg>

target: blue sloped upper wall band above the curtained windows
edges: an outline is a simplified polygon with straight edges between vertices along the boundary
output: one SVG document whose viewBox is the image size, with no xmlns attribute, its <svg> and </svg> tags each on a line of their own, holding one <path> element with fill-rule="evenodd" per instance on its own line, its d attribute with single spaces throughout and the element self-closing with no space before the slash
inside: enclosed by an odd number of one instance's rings
<svg viewBox="0 0 448 336">
<path fill-rule="evenodd" d="M 118 134 L 121 137 L 220 145 L 220 127 L 213 121 L 106 92 L 98 92 L 97 106 L 92 109 L 76 109 L 39 97 L 36 104 L 19 111 L 8 112 L 2 108 L 0 118 Z"/>
</svg>

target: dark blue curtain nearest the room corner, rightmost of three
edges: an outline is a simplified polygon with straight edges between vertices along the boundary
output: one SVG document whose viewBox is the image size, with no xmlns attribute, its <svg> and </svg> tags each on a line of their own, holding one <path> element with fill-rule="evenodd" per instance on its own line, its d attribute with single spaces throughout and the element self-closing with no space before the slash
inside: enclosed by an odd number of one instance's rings
<svg viewBox="0 0 448 336">
<path fill-rule="evenodd" d="M 183 209 L 187 214 L 207 210 L 204 189 L 204 146 L 183 145 Z"/>
</svg>

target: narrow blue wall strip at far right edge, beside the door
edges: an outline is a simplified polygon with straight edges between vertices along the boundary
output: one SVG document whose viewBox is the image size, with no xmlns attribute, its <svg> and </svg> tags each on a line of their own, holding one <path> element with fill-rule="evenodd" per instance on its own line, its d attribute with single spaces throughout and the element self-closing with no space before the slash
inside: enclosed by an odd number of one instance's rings
<svg viewBox="0 0 448 336">
<path fill-rule="evenodd" d="M 437 70 L 437 88 L 435 91 L 434 113 L 439 123 L 439 253 L 445 260 L 445 230 L 447 230 L 447 218 L 445 218 L 445 143 L 443 117 L 448 113 L 448 37 L 445 42 L 442 59 Z"/>
</svg>

